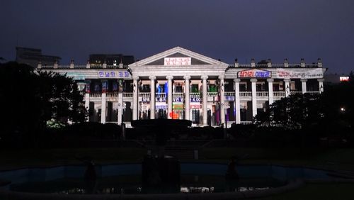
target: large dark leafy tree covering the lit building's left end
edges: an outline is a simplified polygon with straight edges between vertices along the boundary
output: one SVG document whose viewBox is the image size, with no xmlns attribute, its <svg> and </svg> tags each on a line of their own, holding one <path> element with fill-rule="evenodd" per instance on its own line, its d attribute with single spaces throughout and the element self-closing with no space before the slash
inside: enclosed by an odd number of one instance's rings
<svg viewBox="0 0 354 200">
<path fill-rule="evenodd" d="M 51 119 L 62 123 L 85 120 L 83 96 L 71 78 L 17 62 L 1 64 L 0 73 L 4 74 L 0 79 L 4 113 L 0 134 L 20 134 L 33 142 Z"/>
</svg>

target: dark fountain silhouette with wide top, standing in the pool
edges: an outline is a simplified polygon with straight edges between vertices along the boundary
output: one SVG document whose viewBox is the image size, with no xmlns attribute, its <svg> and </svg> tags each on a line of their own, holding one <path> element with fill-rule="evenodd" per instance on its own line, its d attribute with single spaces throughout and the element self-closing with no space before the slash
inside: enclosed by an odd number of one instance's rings
<svg viewBox="0 0 354 200">
<path fill-rule="evenodd" d="M 176 157 L 166 156 L 164 149 L 173 130 L 192 125 L 192 121 L 150 119 L 132 121 L 132 127 L 144 128 L 155 135 L 156 155 L 144 157 L 142 162 L 142 191 L 144 193 L 176 193 L 180 191 L 181 165 Z"/>
</svg>

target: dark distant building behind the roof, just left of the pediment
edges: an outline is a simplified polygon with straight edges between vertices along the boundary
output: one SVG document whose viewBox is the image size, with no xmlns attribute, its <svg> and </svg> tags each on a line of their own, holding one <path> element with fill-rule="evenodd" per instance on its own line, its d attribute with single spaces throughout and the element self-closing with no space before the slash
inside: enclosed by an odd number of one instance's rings
<svg viewBox="0 0 354 200">
<path fill-rule="evenodd" d="M 91 54 L 89 62 L 93 66 L 107 65 L 118 66 L 120 62 L 123 65 L 130 65 L 135 62 L 134 56 L 122 54 Z"/>
</svg>

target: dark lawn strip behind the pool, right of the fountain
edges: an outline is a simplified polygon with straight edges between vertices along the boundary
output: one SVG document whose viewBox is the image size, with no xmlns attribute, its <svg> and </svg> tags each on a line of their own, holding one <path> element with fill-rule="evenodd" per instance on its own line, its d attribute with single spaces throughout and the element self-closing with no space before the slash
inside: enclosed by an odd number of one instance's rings
<svg viewBox="0 0 354 200">
<path fill-rule="evenodd" d="M 292 165 L 354 172 L 352 148 L 205 148 L 200 152 L 202 160 L 214 162 L 224 162 L 234 155 L 244 157 L 239 160 L 241 164 Z"/>
</svg>

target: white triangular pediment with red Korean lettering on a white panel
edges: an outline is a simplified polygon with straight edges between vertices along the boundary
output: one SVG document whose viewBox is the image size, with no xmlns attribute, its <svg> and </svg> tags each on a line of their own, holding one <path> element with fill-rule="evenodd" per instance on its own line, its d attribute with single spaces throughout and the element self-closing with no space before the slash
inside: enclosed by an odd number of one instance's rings
<svg viewBox="0 0 354 200">
<path fill-rule="evenodd" d="M 172 65 L 172 66 L 186 66 L 186 65 L 225 65 L 226 63 L 219 60 L 200 55 L 196 52 L 186 50 L 184 48 L 176 47 L 164 52 L 160 52 L 151 57 L 147 57 L 138 62 L 132 63 L 130 67 L 142 66 L 142 65 Z"/>
</svg>

